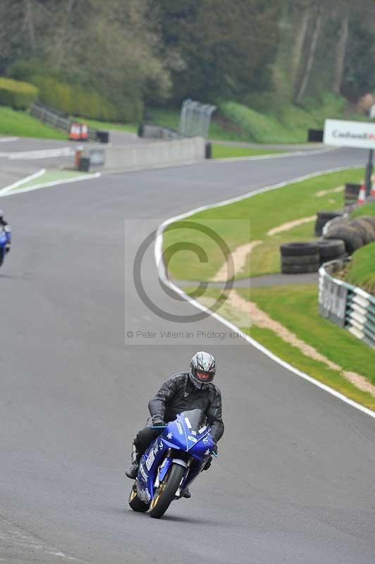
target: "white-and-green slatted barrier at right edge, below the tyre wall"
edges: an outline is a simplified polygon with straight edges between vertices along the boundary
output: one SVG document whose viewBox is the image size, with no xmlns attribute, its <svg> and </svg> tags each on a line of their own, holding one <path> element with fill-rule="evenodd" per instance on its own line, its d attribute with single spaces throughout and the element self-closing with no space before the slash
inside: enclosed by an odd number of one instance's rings
<svg viewBox="0 0 375 564">
<path fill-rule="evenodd" d="M 331 276 L 343 264 L 342 260 L 331 261 L 319 269 L 319 315 L 375 348 L 375 298 Z"/>
</svg>

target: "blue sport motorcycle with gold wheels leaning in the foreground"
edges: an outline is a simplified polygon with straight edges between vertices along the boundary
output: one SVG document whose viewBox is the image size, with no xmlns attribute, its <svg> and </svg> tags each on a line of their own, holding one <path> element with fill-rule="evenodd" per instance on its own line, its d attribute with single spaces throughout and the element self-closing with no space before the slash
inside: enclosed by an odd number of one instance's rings
<svg viewBox="0 0 375 564">
<path fill-rule="evenodd" d="M 215 443 L 202 410 L 185 411 L 147 448 L 129 496 L 134 511 L 159 519 L 180 499 L 209 459 Z"/>
</svg>

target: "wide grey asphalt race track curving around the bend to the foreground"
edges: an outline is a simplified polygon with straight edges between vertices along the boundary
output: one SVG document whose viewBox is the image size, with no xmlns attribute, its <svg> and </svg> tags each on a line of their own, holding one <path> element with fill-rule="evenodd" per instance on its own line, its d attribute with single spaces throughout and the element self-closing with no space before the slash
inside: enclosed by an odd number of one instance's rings
<svg viewBox="0 0 375 564">
<path fill-rule="evenodd" d="M 226 432 L 192 498 L 162 520 L 133 513 L 123 472 L 149 397 L 199 348 L 124 344 L 125 328 L 171 325 L 133 286 L 147 233 L 202 204 L 365 161 L 342 149 L 204 162 L 1 200 L 13 250 L 0 270 L 0 563 L 374 564 L 374 419 L 244 342 L 211 340 Z M 159 288 L 152 250 L 142 268 L 159 305 L 197 312 Z"/>
</svg>

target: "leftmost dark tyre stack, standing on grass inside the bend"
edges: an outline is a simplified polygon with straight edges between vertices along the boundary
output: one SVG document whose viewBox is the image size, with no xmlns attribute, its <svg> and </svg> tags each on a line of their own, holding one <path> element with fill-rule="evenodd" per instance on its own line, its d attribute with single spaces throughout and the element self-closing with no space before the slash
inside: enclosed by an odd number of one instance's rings
<svg viewBox="0 0 375 564">
<path fill-rule="evenodd" d="M 283 243 L 280 252 L 283 274 L 302 274 L 319 270 L 318 243 Z"/>
</svg>

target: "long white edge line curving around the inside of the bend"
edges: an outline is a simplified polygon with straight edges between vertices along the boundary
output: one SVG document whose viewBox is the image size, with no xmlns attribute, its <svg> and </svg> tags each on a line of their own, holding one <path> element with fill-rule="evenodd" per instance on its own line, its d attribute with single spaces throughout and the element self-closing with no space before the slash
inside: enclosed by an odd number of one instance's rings
<svg viewBox="0 0 375 564">
<path fill-rule="evenodd" d="M 351 166 L 350 168 L 363 168 L 363 166 L 357 165 L 357 166 Z M 329 174 L 329 173 L 339 172 L 339 171 L 343 171 L 343 170 L 348 170 L 348 166 L 340 167 L 340 168 L 331 168 L 331 169 L 328 169 L 326 171 L 319 171 L 319 172 L 316 172 L 316 173 L 309 174 L 307 176 L 301 176 L 299 178 L 295 178 L 294 180 L 290 180 L 290 181 L 287 181 L 287 182 L 267 186 L 266 188 L 259 188 L 259 190 L 254 190 L 254 192 L 248 192 L 245 195 L 238 196 L 238 197 L 232 198 L 230 200 L 224 200 L 223 202 L 218 202 L 217 204 L 201 206 L 197 209 L 193 209 L 190 212 L 186 212 L 185 214 L 180 214 L 179 216 L 175 216 L 175 217 L 172 217 L 170 219 L 167 219 L 166 221 L 161 223 L 161 225 L 157 228 L 155 243 L 154 243 L 154 258 L 155 258 L 156 269 L 157 269 L 158 276 L 159 276 L 160 280 L 164 284 L 166 284 L 166 286 L 171 288 L 171 290 L 173 290 L 176 293 L 178 293 L 179 295 L 181 295 L 184 300 L 186 300 L 187 302 L 190 302 L 190 304 L 197 307 L 197 309 L 200 309 L 201 311 L 207 312 L 211 317 L 214 317 L 214 319 L 216 319 L 216 321 L 219 321 L 221 324 L 227 326 L 228 329 L 231 329 L 232 331 L 235 331 L 236 333 L 238 333 L 240 336 L 242 336 L 242 338 L 245 339 L 245 341 L 247 341 L 247 343 L 250 343 L 250 345 L 252 345 L 254 348 L 259 350 L 261 353 L 264 353 L 264 355 L 271 358 L 271 360 L 273 360 L 274 362 L 277 362 L 278 364 L 280 364 L 283 368 L 289 370 L 289 372 L 293 372 L 293 374 L 296 374 L 297 376 L 300 376 L 300 378 L 309 381 L 311 384 L 314 384 L 314 386 L 321 388 L 321 390 L 324 390 L 324 391 L 330 393 L 331 396 L 335 396 L 335 398 L 338 398 L 339 400 L 343 401 L 344 403 L 351 405 L 352 407 L 355 407 L 355 409 L 357 409 L 357 410 L 361 411 L 362 413 L 369 415 L 369 417 L 372 417 L 373 419 L 375 419 L 375 412 L 374 411 L 369 410 L 367 407 L 364 407 L 363 405 L 360 405 L 359 403 L 357 403 L 353 400 L 350 400 L 350 398 L 347 398 L 342 393 L 334 390 L 330 386 L 326 386 L 326 384 L 323 384 L 319 380 L 312 378 L 312 376 L 309 376 L 309 374 L 306 374 L 305 372 L 302 372 L 301 370 L 293 367 L 288 362 L 285 362 L 285 360 L 282 360 L 280 357 L 271 353 L 271 350 L 265 348 L 263 345 L 258 343 L 258 341 L 255 341 L 255 339 L 253 339 L 249 335 L 243 333 L 238 326 L 233 324 L 231 321 L 228 321 L 228 319 L 225 319 L 224 317 L 221 317 L 219 314 L 216 314 L 214 312 L 209 312 L 209 310 L 207 310 L 207 307 L 204 307 L 199 302 L 192 300 L 190 298 L 190 296 L 188 296 L 187 294 L 185 294 L 185 292 L 183 290 L 181 290 L 181 288 L 178 288 L 178 286 L 175 286 L 175 284 L 171 283 L 171 281 L 168 280 L 168 277 L 166 276 L 166 269 L 165 269 L 164 262 L 163 262 L 163 233 L 164 233 L 165 228 L 168 225 L 170 225 L 171 223 L 174 223 L 175 221 L 178 221 L 180 219 L 184 219 L 185 217 L 189 217 L 193 214 L 196 214 L 197 212 L 202 212 L 205 209 L 212 209 L 214 207 L 221 207 L 223 205 L 226 205 L 226 204 L 229 204 L 229 203 L 232 203 L 232 202 L 238 202 L 240 200 L 245 200 L 247 197 L 252 197 L 252 196 L 257 195 L 257 194 L 262 193 L 262 192 L 267 192 L 269 190 L 276 190 L 277 188 L 283 188 L 283 186 L 288 185 L 288 184 L 295 184 L 295 183 L 301 182 L 302 180 L 314 178 L 315 176 L 322 176 L 323 174 Z"/>
</svg>

